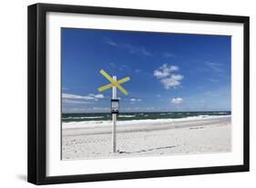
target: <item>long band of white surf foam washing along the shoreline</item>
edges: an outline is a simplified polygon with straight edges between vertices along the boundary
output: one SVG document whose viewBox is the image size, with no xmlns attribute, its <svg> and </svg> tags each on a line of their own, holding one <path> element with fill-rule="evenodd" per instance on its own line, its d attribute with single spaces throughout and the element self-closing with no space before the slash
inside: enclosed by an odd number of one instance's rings
<svg viewBox="0 0 256 188">
<path fill-rule="evenodd" d="M 179 119 L 144 119 L 144 120 L 128 120 L 128 121 L 118 121 L 118 125 L 138 125 L 138 124 L 166 124 L 166 123 L 175 123 L 182 121 L 194 121 L 194 120 L 203 120 L 203 119 L 214 119 L 221 117 L 230 117 L 230 115 L 198 115 L 190 116 Z M 81 122 L 68 122 L 62 123 L 63 129 L 68 128 L 96 128 L 96 127 L 105 127 L 112 125 L 112 121 L 81 121 Z"/>
</svg>

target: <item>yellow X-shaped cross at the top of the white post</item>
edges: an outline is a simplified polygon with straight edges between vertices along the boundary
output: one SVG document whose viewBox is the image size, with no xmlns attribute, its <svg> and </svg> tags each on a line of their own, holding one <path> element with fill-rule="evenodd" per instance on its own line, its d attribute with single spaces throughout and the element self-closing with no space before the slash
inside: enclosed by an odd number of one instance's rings
<svg viewBox="0 0 256 188">
<path fill-rule="evenodd" d="M 104 76 L 108 79 L 108 81 L 110 82 L 110 84 L 107 84 L 107 85 L 104 85 L 104 86 L 102 86 L 102 87 L 97 88 L 97 90 L 98 90 L 99 92 L 103 92 L 103 91 L 107 90 L 107 89 L 110 88 L 110 87 L 116 86 L 116 87 L 118 87 L 118 89 L 119 89 L 123 94 L 128 95 L 127 90 L 125 90 L 125 88 L 123 88 L 123 87 L 120 85 L 120 84 L 126 83 L 126 82 L 128 82 L 128 81 L 130 80 L 130 78 L 129 78 L 128 76 L 127 76 L 127 77 L 124 77 L 124 78 L 121 79 L 121 80 L 115 81 L 115 80 L 113 80 L 113 78 L 112 78 L 110 75 L 108 75 L 103 69 L 101 69 L 101 70 L 99 71 L 99 73 L 101 73 L 102 75 L 104 75 Z"/>
</svg>

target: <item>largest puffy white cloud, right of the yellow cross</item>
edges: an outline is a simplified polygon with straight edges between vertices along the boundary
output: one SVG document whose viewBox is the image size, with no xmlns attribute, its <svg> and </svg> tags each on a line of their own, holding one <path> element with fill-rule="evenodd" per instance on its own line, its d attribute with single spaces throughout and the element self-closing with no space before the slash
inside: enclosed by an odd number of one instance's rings
<svg viewBox="0 0 256 188">
<path fill-rule="evenodd" d="M 163 64 L 157 70 L 154 71 L 160 83 L 164 85 L 166 89 L 171 87 L 177 87 L 181 84 L 181 80 L 184 78 L 182 74 L 173 74 L 173 72 L 179 71 L 179 67 L 176 65 Z"/>
</svg>

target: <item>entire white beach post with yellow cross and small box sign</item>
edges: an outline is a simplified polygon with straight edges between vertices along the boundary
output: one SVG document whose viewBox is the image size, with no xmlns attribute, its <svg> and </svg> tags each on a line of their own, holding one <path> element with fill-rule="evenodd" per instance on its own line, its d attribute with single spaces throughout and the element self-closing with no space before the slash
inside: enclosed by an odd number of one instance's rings
<svg viewBox="0 0 256 188">
<path fill-rule="evenodd" d="M 123 93 L 128 95 L 128 92 L 125 88 L 123 88 L 120 84 L 126 83 L 130 80 L 130 78 L 124 77 L 121 80 L 118 80 L 116 75 L 110 76 L 103 69 L 99 71 L 100 74 L 104 75 L 110 84 L 99 87 L 97 90 L 99 92 L 103 92 L 112 87 L 112 99 L 111 99 L 111 114 L 112 114 L 112 152 L 117 152 L 117 143 L 116 143 L 116 132 L 117 132 L 117 114 L 119 112 L 119 100 L 117 94 L 117 88 Z"/>
</svg>

